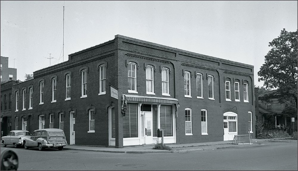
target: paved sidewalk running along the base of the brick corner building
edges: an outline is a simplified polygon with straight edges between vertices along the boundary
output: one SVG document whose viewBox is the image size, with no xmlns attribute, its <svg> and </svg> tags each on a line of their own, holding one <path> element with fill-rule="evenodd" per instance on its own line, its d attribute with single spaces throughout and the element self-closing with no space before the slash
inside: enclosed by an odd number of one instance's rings
<svg viewBox="0 0 298 171">
<path fill-rule="evenodd" d="M 205 151 L 216 150 L 222 148 L 234 148 L 244 146 L 265 145 L 268 141 L 288 141 L 290 138 L 275 138 L 275 139 L 253 139 L 253 144 L 233 145 L 232 141 L 218 141 L 218 142 L 202 142 L 190 144 L 166 144 L 171 150 L 154 150 L 152 145 L 138 145 L 124 148 L 113 147 L 99 147 L 99 146 L 85 146 L 85 145 L 66 145 L 64 150 L 80 150 L 80 151 L 94 151 L 94 152 L 108 152 L 108 153 L 187 153 L 191 151 Z M 297 141 L 297 140 L 296 140 Z"/>
</svg>

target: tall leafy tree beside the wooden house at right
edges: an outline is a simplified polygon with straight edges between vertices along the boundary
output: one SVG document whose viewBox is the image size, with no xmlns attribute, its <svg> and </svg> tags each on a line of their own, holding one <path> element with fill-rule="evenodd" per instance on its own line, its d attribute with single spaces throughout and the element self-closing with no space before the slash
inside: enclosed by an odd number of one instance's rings
<svg viewBox="0 0 298 171">
<path fill-rule="evenodd" d="M 266 88 L 278 88 L 279 103 L 291 106 L 291 113 L 297 117 L 297 30 L 281 30 L 269 46 L 272 48 L 258 72 L 258 81 L 264 81 Z"/>
</svg>

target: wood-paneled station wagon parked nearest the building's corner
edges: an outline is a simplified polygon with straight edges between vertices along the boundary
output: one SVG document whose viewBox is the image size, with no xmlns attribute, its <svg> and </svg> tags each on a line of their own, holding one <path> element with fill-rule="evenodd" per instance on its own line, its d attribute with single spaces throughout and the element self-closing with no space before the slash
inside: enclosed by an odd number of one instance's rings
<svg viewBox="0 0 298 171">
<path fill-rule="evenodd" d="M 62 129 L 46 128 L 35 130 L 29 138 L 23 140 L 24 148 L 38 147 L 42 151 L 44 148 L 58 148 L 62 150 L 67 145 L 66 137 Z"/>
</svg>

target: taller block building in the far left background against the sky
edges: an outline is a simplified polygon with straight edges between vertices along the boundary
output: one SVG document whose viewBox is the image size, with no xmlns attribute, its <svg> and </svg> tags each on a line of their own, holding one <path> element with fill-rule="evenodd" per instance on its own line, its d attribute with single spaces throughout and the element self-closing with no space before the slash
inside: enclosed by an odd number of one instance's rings
<svg viewBox="0 0 298 171">
<path fill-rule="evenodd" d="M 1 82 L 2 81 L 10 81 L 17 80 L 17 69 L 16 68 L 8 68 L 8 57 L 1 57 Z"/>
</svg>

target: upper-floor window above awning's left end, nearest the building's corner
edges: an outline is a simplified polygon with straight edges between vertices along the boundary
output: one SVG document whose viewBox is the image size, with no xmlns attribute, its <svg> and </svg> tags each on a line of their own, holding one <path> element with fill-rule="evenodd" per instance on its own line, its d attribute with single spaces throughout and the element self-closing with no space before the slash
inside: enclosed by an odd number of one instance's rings
<svg viewBox="0 0 298 171">
<path fill-rule="evenodd" d="M 136 63 L 128 63 L 128 92 L 138 93 L 136 91 Z"/>
</svg>

